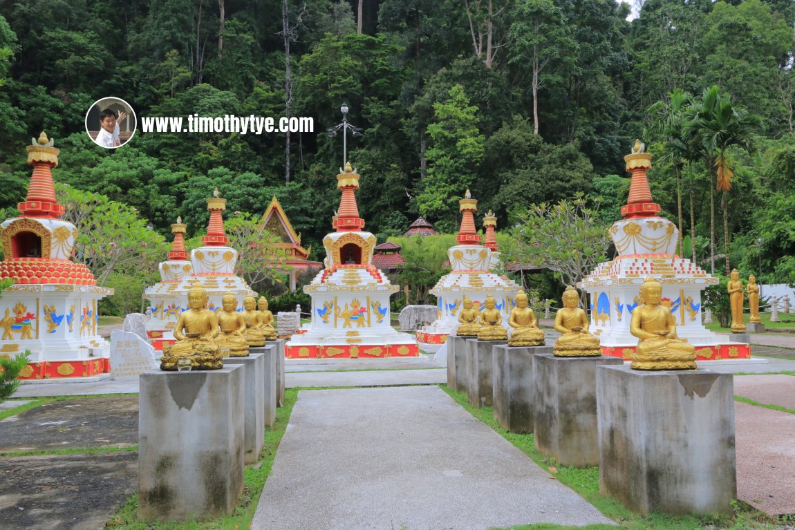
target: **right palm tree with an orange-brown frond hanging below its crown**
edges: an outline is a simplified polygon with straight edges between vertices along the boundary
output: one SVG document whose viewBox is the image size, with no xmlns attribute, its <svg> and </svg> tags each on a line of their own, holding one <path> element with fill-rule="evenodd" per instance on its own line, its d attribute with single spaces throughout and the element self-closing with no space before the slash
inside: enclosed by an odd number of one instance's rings
<svg viewBox="0 0 795 530">
<path fill-rule="evenodd" d="M 731 103 L 731 97 L 721 93 L 717 85 L 704 89 L 701 99 L 688 107 L 688 122 L 684 133 L 691 138 L 694 147 L 703 150 L 707 171 L 714 176 L 715 188 L 710 186 L 710 251 L 715 256 L 715 189 L 722 191 L 723 209 L 723 250 L 726 254 L 726 275 L 729 265 L 729 216 L 728 192 L 731 190 L 731 177 L 734 168 L 727 158 L 730 147 L 738 147 L 747 152 L 754 149 L 753 134 L 762 126 L 762 118 L 750 114 L 744 106 Z M 712 261 L 712 272 L 715 262 Z"/>
</svg>

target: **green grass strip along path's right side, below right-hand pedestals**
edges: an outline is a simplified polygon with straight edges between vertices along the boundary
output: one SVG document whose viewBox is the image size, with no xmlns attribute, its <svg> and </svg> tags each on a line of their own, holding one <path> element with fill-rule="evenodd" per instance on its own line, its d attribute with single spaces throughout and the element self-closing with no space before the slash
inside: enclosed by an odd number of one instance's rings
<svg viewBox="0 0 795 530">
<path fill-rule="evenodd" d="M 667 516 L 661 513 L 651 513 L 649 516 L 640 516 L 624 508 L 619 501 L 611 497 L 604 497 L 599 493 L 599 468 L 576 468 L 556 466 L 552 458 L 541 455 L 533 445 L 533 435 L 518 435 L 508 432 L 499 426 L 492 416 L 491 407 L 474 408 L 467 401 L 465 393 L 448 389 L 447 385 L 439 385 L 448 393 L 456 403 L 466 408 L 472 416 L 487 424 L 499 435 L 513 443 L 525 455 L 529 456 L 542 469 L 548 470 L 556 480 L 579 493 L 581 497 L 599 509 L 604 516 L 615 520 L 621 528 L 626 530 L 698 530 L 699 528 L 714 528 L 715 530 L 750 530 L 774 528 L 776 519 L 754 509 L 742 501 L 735 501 L 734 513 L 731 515 L 714 516 Z M 562 530 L 564 528 L 583 528 L 584 530 L 604 530 L 608 527 L 603 524 L 591 524 L 584 527 L 560 526 L 555 524 L 529 524 L 512 526 L 511 530 Z M 500 529 L 502 530 L 502 529 Z M 507 530 L 507 528 L 505 529 Z"/>
</svg>

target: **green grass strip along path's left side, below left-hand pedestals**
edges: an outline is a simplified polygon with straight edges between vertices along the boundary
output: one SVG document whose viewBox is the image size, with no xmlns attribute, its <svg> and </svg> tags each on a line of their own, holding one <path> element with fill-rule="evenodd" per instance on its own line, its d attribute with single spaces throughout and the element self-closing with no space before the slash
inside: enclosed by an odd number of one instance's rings
<svg viewBox="0 0 795 530">
<path fill-rule="evenodd" d="M 134 493 L 111 517 L 106 528 L 117 530 L 243 530 L 250 528 L 262 488 L 265 487 L 270 469 L 273 467 L 273 458 L 276 456 L 281 437 L 285 435 L 285 429 L 297 396 L 297 389 L 285 391 L 285 405 L 277 409 L 276 423 L 266 430 L 265 447 L 260 455 L 262 459 L 258 463 L 246 467 L 246 474 L 243 478 L 243 494 L 235 508 L 235 513 L 231 516 L 203 521 L 142 522 L 138 520 L 138 493 Z"/>
</svg>

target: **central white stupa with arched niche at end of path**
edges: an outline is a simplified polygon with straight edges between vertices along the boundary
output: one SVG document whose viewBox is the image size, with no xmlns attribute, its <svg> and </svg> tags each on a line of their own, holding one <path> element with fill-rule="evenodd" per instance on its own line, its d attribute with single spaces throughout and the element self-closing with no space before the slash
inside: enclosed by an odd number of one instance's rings
<svg viewBox="0 0 795 530">
<path fill-rule="evenodd" d="M 304 292 L 312 297 L 312 323 L 285 344 L 287 358 L 417 357 L 417 341 L 390 323 L 390 284 L 372 265 L 375 236 L 364 232 L 354 191 L 359 174 L 348 163 L 337 175 L 343 195 L 323 239 L 325 268 Z"/>
</svg>

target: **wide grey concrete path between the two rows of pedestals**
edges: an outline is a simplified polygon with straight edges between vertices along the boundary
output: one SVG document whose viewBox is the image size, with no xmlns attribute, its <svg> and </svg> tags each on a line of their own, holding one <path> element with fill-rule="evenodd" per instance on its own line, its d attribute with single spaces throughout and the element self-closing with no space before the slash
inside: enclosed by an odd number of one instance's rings
<svg viewBox="0 0 795 530">
<path fill-rule="evenodd" d="M 442 390 L 403 387 L 301 392 L 251 528 L 537 522 L 613 524 Z"/>
</svg>

